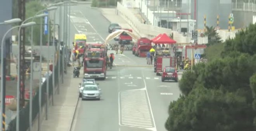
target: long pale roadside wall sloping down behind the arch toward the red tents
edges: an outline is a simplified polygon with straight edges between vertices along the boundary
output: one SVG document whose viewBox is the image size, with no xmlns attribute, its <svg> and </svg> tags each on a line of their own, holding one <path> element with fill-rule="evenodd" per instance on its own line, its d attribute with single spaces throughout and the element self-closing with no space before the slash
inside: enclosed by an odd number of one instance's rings
<svg viewBox="0 0 256 131">
<path fill-rule="evenodd" d="M 118 15 L 123 17 L 126 22 L 128 22 L 128 24 L 143 37 L 152 39 L 159 34 L 166 33 L 169 35 L 173 33 L 173 39 L 176 40 L 177 43 L 190 43 L 189 37 L 184 37 L 182 34 L 179 34 L 171 29 L 142 24 L 138 18 L 135 17 L 135 14 L 128 10 L 128 8 L 124 7 L 120 2 L 117 4 L 117 10 Z M 198 37 L 198 44 L 206 43 L 208 43 L 207 37 Z"/>
</svg>

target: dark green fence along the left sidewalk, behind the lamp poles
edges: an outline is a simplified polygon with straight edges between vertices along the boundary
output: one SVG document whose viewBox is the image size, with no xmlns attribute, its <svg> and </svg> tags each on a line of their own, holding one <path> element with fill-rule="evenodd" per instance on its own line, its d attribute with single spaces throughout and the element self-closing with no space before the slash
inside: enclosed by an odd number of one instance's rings
<svg viewBox="0 0 256 131">
<path fill-rule="evenodd" d="M 61 56 L 62 58 L 62 56 Z M 61 59 L 61 62 L 60 62 L 60 72 L 61 72 L 61 75 L 62 74 L 62 59 Z M 55 86 L 60 82 L 59 78 L 58 78 L 58 62 L 55 66 Z M 53 86 L 52 86 L 52 74 L 49 76 L 49 95 L 48 95 L 48 98 L 50 96 L 53 95 Z M 42 107 L 43 105 L 46 104 L 46 99 L 47 99 L 47 81 L 43 82 L 42 84 L 42 88 L 41 88 L 41 96 L 42 96 Z M 33 103 L 32 103 L 32 119 L 34 120 L 36 118 L 36 116 L 38 115 L 39 113 L 39 89 L 38 91 L 36 92 L 36 95 L 33 97 Z M 20 124 L 19 124 L 19 130 L 20 131 L 26 131 L 28 128 L 29 128 L 29 103 L 26 104 L 26 106 L 24 108 L 22 108 L 20 110 L 20 114 L 19 114 L 19 118 L 20 118 Z M 17 121 L 17 118 L 13 119 L 12 121 L 10 121 L 9 123 L 9 126 L 8 126 L 8 129 L 6 131 L 16 131 L 16 121 Z"/>
</svg>

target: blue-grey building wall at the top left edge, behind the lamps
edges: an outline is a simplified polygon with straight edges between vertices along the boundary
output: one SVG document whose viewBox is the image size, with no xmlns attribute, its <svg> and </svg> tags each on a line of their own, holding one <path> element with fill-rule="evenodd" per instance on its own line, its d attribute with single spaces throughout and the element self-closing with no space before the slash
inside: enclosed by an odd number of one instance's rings
<svg viewBox="0 0 256 131">
<path fill-rule="evenodd" d="M 12 19 L 12 0 L 0 0 L 0 23 Z M 0 42 L 3 35 L 11 28 L 11 25 L 0 25 Z M 11 39 L 11 32 L 5 37 L 5 40 Z"/>
</svg>

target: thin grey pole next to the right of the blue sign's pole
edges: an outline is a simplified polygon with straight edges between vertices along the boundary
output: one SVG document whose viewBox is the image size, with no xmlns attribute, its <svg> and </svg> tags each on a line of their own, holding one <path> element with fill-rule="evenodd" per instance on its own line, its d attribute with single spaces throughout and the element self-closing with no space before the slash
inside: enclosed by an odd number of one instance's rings
<svg viewBox="0 0 256 131">
<path fill-rule="evenodd" d="M 54 48 L 54 57 L 53 57 L 53 64 L 52 64 L 52 106 L 54 105 L 54 89 L 55 89 L 55 15 L 56 11 L 54 11 L 54 38 L 52 47 Z"/>
</svg>

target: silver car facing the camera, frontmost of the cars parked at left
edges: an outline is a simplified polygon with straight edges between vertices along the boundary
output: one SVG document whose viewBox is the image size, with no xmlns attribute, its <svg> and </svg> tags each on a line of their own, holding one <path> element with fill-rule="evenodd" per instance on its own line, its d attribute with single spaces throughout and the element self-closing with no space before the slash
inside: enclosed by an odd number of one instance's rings
<svg viewBox="0 0 256 131">
<path fill-rule="evenodd" d="M 101 89 L 97 85 L 86 85 L 83 88 L 82 100 L 85 99 L 97 99 L 100 100 Z"/>
</svg>

